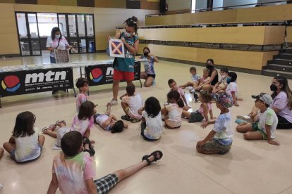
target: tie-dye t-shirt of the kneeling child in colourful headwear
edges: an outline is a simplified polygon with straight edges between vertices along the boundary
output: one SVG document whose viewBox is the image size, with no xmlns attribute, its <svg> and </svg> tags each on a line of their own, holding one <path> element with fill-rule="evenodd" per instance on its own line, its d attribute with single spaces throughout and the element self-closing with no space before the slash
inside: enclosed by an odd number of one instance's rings
<svg viewBox="0 0 292 194">
<path fill-rule="evenodd" d="M 217 132 L 214 138 L 217 139 L 222 145 L 229 145 L 232 143 L 233 130 L 231 126 L 230 112 L 219 115 L 216 119 L 213 131 Z"/>
</svg>

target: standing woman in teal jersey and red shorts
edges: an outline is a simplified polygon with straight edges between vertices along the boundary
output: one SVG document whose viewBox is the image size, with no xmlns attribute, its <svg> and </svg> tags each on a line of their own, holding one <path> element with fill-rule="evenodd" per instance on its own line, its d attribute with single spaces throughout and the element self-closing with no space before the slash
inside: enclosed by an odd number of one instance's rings
<svg viewBox="0 0 292 194">
<path fill-rule="evenodd" d="M 126 23 L 126 32 L 118 32 L 115 39 L 121 39 L 125 48 L 125 58 L 116 58 L 116 63 L 113 64 L 113 99 L 111 105 L 118 103 L 118 89 L 120 81 L 125 79 L 127 85 L 132 84 L 134 79 L 134 64 L 135 55 L 138 52 L 139 38 L 138 38 L 138 19 L 133 16 L 128 18 Z"/>
</svg>

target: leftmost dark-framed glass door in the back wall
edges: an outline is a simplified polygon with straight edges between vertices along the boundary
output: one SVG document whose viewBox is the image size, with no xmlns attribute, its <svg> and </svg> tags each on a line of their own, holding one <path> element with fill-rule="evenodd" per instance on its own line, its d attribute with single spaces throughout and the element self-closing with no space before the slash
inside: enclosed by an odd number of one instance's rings
<svg viewBox="0 0 292 194">
<path fill-rule="evenodd" d="M 40 56 L 39 28 L 36 13 L 16 13 L 21 56 Z"/>
</svg>

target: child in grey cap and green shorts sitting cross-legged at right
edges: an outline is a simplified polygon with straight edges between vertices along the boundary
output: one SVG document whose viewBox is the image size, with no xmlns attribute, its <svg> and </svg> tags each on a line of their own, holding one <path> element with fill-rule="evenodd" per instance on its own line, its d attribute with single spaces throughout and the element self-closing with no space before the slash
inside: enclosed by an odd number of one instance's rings
<svg viewBox="0 0 292 194">
<path fill-rule="evenodd" d="M 245 133 L 243 136 L 247 140 L 264 139 L 269 144 L 279 145 L 275 138 L 276 125 L 278 124 L 278 117 L 269 105 L 273 103 L 272 97 L 267 93 L 260 93 L 260 95 L 252 96 L 255 98 L 255 107 L 260 110 L 257 115 L 252 118 L 255 122 L 241 122 L 236 127 L 236 130 Z"/>
</svg>

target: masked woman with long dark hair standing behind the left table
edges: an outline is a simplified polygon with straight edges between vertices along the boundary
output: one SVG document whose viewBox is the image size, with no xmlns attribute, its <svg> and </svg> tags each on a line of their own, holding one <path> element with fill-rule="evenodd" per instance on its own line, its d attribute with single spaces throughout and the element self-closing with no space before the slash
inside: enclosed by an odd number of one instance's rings
<svg viewBox="0 0 292 194">
<path fill-rule="evenodd" d="M 55 49 L 58 50 L 65 50 L 66 48 L 72 48 L 68 44 L 68 41 L 65 39 L 65 37 L 62 36 L 61 30 L 59 27 L 53 27 L 51 29 L 51 36 L 47 38 L 47 50 L 51 51 L 49 54 L 49 59 L 51 63 L 56 63 L 56 56 L 55 56 Z M 66 90 L 64 90 L 66 91 Z M 52 93 L 56 94 L 56 90 L 54 90 Z"/>
</svg>

